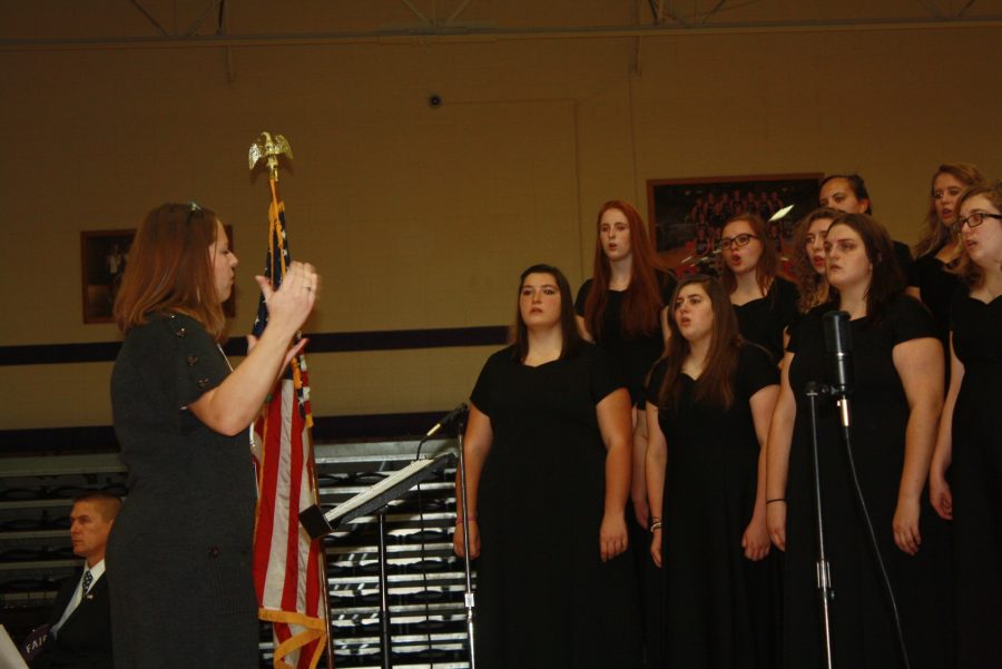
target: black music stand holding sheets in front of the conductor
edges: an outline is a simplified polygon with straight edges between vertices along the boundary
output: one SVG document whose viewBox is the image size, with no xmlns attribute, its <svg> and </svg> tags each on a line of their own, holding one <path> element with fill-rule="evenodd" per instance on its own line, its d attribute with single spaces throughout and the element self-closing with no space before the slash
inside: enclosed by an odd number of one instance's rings
<svg viewBox="0 0 1002 669">
<path fill-rule="evenodd" d="M 452 464 L 454 460 L 455 455 L 452 453 L 445 453 L 429 460 L 415 460 L 404 469 L 394 472 L 365 492 L 356 494 L 326 513 L 321 511 L 317 504 L 299 513 L 299 522 L 311 539 L 325 537 L 340 525 L 360 515 L 365 515 L 373 511 L 377 513 L 380 520 L 380 648 L 383 656 L 383 669 L 392 667 L 390 586 L 386 577 L 386 504 L 399 499 L 419 483 L 431 479 L 436 472 Z"/>
</svg>

